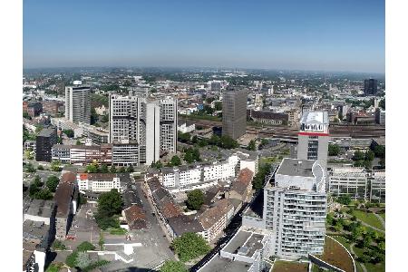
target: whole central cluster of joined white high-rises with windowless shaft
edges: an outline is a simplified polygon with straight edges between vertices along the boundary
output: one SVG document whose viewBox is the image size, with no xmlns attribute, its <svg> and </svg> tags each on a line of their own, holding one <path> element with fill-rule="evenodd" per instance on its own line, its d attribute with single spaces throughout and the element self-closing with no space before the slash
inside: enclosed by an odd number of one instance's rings
<svg viewBox="0 0 408 272">
<path fill-rule="evenodd" d="M 113 145 L 137 142 L 138 160 L 146 164 L 159 160 L 160 153 L 176 151 L 177 100 L 110 95 L 109 102 Z"/>
</svg>

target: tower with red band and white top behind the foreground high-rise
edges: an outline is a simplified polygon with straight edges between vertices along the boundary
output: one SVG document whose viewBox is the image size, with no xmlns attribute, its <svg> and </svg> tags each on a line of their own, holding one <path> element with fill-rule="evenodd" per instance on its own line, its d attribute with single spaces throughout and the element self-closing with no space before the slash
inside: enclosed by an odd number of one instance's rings
<svg viewBox="0 0 408 272">
<path fill-rule="evenodd" d="M 298 132 L 297 159 L 318 160 L 326 170 L 329 141 L 327 112 L 304 112 Z"/>
</svg>

